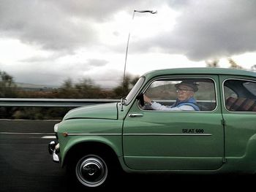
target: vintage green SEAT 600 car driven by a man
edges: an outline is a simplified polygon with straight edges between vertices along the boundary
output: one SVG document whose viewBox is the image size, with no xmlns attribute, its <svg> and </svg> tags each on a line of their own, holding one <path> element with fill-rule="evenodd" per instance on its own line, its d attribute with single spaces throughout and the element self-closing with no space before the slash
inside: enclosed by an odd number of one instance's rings
<svg viewBox="0 0 256 192">
<path fill-rule="evenodd" d="M 192 93 L 194 100 L 184 101 L 190 110 L 177 106 L 184 93 Z M 256 73 L 148 72 L 120 102 L 75 108 L 54 131 L 53 161 L 88 188 L 108 184 L 118 170 L 255 174 Z"/>
</svg>

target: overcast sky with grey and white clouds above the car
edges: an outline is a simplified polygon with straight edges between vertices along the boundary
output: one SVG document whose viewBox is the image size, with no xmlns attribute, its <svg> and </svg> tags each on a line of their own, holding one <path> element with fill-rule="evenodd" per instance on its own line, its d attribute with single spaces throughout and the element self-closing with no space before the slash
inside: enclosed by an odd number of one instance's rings
<svg viewBox="0 0 256 192">
<path fill-rule="evenodd" d="M 157 14 L 135 12 L 157 10 Z M 256 61 L 254 0 L 0 0 L 0 70 L 16 82 L 117 85 L 124 72 Z"/>
</svg>

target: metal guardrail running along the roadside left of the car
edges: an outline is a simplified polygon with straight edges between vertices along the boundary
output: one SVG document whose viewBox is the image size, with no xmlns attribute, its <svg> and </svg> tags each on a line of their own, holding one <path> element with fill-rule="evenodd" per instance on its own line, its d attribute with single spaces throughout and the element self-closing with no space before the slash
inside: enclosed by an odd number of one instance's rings
<svg viewBox="0 0 256 192">
<path fill-rule="evenodd" d="M 0 107 L 81 107 L 118 102 L 120 99 L 21 99 L 0 98 Z"/>
</svg>

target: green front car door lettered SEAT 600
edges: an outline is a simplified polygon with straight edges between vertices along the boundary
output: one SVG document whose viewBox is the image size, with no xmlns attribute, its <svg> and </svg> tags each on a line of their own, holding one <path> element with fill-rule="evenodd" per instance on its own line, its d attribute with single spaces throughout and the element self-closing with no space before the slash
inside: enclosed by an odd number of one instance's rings
<svg viewBox="0 0 256 192">
<path fill-rule="evenodd" d="M 139 101 L 132 105 L 123 131 L 124 161 L 131 169 L 215 170 L 222 166 L 224 134 L 217 75 L 158 77 L 148 82 L 143 93 L 172 104 L 175 83 L 187 79 L 200 84 L 195 94 L 200 111 L 150 110 Z"/>
</svg>

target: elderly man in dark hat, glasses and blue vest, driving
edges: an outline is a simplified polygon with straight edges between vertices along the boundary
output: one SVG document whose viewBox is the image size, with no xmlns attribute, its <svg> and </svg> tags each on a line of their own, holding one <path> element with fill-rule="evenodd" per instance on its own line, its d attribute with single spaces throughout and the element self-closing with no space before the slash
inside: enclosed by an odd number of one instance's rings
<svg viewBox="0 0 256 192">
<path fill-rule="evenodd" d="M 144 101 L 151 104 L 153 110 L 169 110 L 169 111 L 199 111 L 194 94 L 198 90 L 195 82 L 184 80 L 175 85 L 177 91 L 176 102 L 172 106 L 165 106 L 151 100 L 144 95 Z"/>
</svg>

